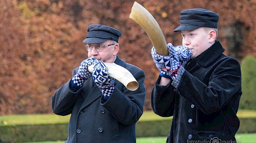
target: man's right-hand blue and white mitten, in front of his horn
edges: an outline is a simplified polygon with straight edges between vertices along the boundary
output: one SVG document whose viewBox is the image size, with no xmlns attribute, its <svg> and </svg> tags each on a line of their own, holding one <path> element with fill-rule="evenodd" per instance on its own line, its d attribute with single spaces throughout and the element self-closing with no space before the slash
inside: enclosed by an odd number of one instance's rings
<svg viewBox="0 0 256 143">
<path fill-rule="evenodd" d="M 103 99 L 107 100 L 113 93 L 114 79 L 109 76 L 108 70 L 103 61 L 99 61 L 93 68 L 93 80 L 101 90 Z"/>
</svg>

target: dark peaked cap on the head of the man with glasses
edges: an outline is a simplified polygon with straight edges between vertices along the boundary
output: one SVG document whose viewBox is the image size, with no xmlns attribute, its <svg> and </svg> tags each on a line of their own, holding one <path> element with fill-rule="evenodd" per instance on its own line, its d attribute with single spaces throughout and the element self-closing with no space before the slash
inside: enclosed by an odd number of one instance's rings
<svg viewBox="0 0 256 143">
<path fill-rule="evenodd" d="M 113 27 L 108 27 L 100 24 L 91 24 L 88 26 L 88 34 L 84 43 L 101 43 L 111 39 L 118 42 L 121 32 Z"/>
</svg>

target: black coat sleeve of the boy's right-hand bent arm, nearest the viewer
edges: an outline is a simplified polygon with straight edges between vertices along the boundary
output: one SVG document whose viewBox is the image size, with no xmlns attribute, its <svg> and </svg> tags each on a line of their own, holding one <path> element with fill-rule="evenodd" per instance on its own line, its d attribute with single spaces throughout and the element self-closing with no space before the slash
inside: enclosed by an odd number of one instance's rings
<svg viewBox="0 0 256 143">
<path fill-rule="evenodd" d="M 219 62 L 211 73 L 204 73 L 204 76 L 209 76 L 207 83 L 185 70 L 182 82 L 174 91 L 205 114 L 222 109 L 236 93 L 241 92 L 240 64 L 231 57 Z"/>
</svg>

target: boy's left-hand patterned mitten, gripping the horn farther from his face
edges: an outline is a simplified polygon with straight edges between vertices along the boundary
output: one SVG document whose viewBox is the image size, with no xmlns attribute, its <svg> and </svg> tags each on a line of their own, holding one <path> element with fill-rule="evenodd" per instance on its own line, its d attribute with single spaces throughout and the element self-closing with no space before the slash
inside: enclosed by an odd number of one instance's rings
<svg viewBox="0 0 256 143">
<path fill-rule="evenodd" d="M 181 67 L 181 63 L 174 48 L 169 46 L 167 48 L 169 52 L 167 56 L 158 54 L 154 47 L 151 49 L 151 55 L 157 68 L 161 71 L 160 76 L 174 80 Z"/>
</svg>

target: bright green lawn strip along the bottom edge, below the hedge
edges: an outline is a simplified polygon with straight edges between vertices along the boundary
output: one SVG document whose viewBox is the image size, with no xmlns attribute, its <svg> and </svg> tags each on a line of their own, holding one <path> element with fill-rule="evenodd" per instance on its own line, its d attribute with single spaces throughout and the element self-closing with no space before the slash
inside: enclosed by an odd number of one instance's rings
<svg viewBox="0 0 256 143">
<path fill-rule="evenodd" d="M 237 134 L 237 143 L 256 143 L 255 134 Z M 64 141 L 56 142 L 36 142 L 36 143 L 63 143 Z M 166 143 L 166 137 L 139 137 L 137 143 Z"/>
</svg>

